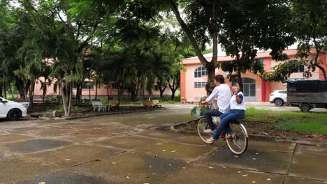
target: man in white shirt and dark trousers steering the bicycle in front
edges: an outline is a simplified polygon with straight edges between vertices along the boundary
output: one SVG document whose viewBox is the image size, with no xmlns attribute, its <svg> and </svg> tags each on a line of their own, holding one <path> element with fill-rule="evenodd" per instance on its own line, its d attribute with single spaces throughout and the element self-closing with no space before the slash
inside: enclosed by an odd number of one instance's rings
<svg viewBox="0 0 327 184">
<path fill-rule="evenodd" d="M 229 101 L 231 100 L 231 88 L 225 84 L 224 76 L 217 75 L 215 77 L 215 89 L 212 93 L 208 96 L 208 98 L 203 101 L 202 103 L 212 103 L 212 101 L 217 98 L 217 105 L 218 109 L 209 109 L 205 112 L 204 116 L 205 119 L 210 126 L 210 128 L 203 130 L 206 133 L 214 133 L 216 129 L 215 123 L 212 122 L 212 116 L 221 116 L 229 111 Z"/>
</svg>

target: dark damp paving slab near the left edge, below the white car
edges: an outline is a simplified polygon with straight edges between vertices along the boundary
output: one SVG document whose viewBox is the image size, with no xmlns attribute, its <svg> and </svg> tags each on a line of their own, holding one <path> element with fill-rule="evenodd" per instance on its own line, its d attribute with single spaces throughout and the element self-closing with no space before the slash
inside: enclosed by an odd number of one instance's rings
<svg viewBox="0 0 327 184">
<path fill-rule="evenodd" d="M 68 146 L 69 144 L 71 144 L 71 142 L 59 139 L 31 139 L 12 144 L 5 144 L 4 146 L 0 147 L 8 148 L 12 153 L 31 153 L 59 148 L 61 146 Z"/>
</svg>

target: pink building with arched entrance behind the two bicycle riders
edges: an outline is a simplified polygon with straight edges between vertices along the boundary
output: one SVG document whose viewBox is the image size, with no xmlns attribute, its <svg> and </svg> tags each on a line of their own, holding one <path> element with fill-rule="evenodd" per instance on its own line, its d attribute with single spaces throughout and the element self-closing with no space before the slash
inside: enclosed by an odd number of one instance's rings
<svg viewBox="0 0 327 184">
<path fill-rule="evenodd" d="M 314 49 L 312 49 L 314 52 Z M 296 59 L 296 49 L 288 49 L 285 53 L 291 58 Z M 211 61 L 212 54 L 205 54 L 205 58 Z M 271 59 L 269 52 L 258 52 L 256 59 L 260 59 L 265 65 L 265 70 L 270 71 L 273 66 L 277 65 L 277 62 Z M 325 68 L 327 68 L 327 54 L 321 54 L 319 59 L 323 61 Z M 218 56 L 218 62 L 232 61 L 233 58 L 230 56 Z M 186 98 L 187 101 L 197 102 L 203 96 L 206 95 L 205 84 L 207 82 L 207 71 L 201 65 L 198 57 L 192 57 L 184 59 L 182 64 L 187 68 L 187 70 L 181 71 L 181 81 L 180 81 L 180 97 Z M 304 66 L 298 68 L 297 72 L 291 74 L 291 79 L 302 79 Z M 221 74 L 226 77 L 228 72 L 224 72 L 221 68 L 216 69 L 216 75 Z M 315 72 L 312 72 L 312 77 L 310 79 L 324 79 L 322 72 L 317 68 Z M 228 79 L 225 80 L 228 83 Z M 242 84 L 243 93 L 245 94 L 246 100 L 248 102 L 267 102 L 269 100 L 269 95 L 274 90 L 286 89 L 286 84 L 282 82 L 266 82 L 261 79 L 258 75 L 254 75 L 251 72 L 242 74 Z"/>
</svg>

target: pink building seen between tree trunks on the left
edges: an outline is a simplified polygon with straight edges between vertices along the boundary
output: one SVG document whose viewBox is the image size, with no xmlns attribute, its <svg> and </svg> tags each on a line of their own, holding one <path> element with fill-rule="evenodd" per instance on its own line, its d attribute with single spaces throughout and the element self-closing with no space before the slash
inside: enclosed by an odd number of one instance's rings
<svg viewBox="0 0 327 184">
<path fill-rule="evenodd" d="M 41 77 L 39 78 L 39 80 L 44 81 L 44 78 Z M 47 86 L 47 93 L 46 95 L 60 95 L 60 91 L 59 89 L 57 89 L 57 91 L 54 91 L 54 82 L 55 80 L 52 82 L 52 84 L 50 86 Z M 88 79 L 85 79 L 85 84 L 87 84 L 89 81 Z M 91 79 L 91 82 L 93 84 L 93 81 Z M 83 89 L 82 89 L 82 98 L 89 98 L 89 93 L 91 93 L 91 98 L 94 99 L 95 95 L 96 95 L 96 86 L 92 85 L 91 86 L 91 90 L 89 90 L 89 86 L 84 85 Z M 159 89 L 157 89 L 157 86 L 154 85 L 154 88 L 152 89 L 152 96 L 159 96 L 160 95 L 160 91 Z M 76 94 L 76 89 L 73 89 L 73 95 Z M 107 85 L 101 85 L 100 87 L 98 87 L 98 99 L 99 98 L 106 98 L 107 95 L 110 95 L 110 97 L 115 97 L 118 95 L 118 90 L 117 90 L 117 85 L 115 84 L 115 82 L 110 82 L 110 84 L 108 84 L 108 89 L 107 89 Z M 35 85 L 35 89 L 34 89 L 34 98 L 41 98 L 41 96 L 43 95 L 43 91 L 41 90 L 41 82 L 36 81 L 36 85 Z M 124 92 L 124 95 L 128 95 L 127 92 Z M 147 95 L 147 91 L 145 91 L 145 95 Z M 171 95 L 171 91 L 169 89 L 169 87 L 167 86 L 166 91 L 163 92 L 163 95 Z"/>
</svg>

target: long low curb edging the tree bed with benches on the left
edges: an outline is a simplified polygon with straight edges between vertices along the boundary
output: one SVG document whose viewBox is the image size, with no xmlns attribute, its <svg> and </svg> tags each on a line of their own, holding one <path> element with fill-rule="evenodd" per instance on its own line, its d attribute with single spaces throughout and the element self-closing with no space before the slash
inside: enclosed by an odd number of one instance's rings
<svg viewBox="0 0 327 184">
<path fill-rule="evenodd" d="M 79 119 L 79 118 L 91 118 L 95 116 L 108 116 L 108 115 L 115 115 L 115 114 L 129 114 L 134 112 L 151 112 L 151 111 L 157 111 L 157 110 L 166 110 L 166 108 L 160 108 L 160 109 L 142 109 L 142 110 L 133 110 L 133 111 L 124 111 L 124 112 L 108 112 L 104 114 L 90 114 L 85 116 L 68 116 L 64 118 L 38 118 L 40 120 L 73 120 L 73 119 Z"/>
</svg>

